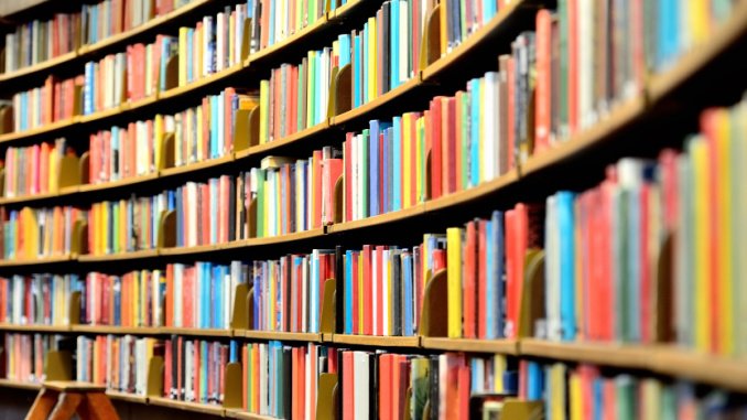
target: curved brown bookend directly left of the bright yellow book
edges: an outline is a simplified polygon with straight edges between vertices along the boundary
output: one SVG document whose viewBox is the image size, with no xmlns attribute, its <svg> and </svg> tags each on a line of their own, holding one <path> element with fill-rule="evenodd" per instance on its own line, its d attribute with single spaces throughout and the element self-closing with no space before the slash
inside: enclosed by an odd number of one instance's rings
<svg viewBox="0 0 747 420">
<path fill-rule="evenodd" d="M 423 308 L 420 316 L 420 335 L 445 337 L 448 324 L 448 278 L 446 270 L 439 270 L 425 284 Z"/>
</svg>

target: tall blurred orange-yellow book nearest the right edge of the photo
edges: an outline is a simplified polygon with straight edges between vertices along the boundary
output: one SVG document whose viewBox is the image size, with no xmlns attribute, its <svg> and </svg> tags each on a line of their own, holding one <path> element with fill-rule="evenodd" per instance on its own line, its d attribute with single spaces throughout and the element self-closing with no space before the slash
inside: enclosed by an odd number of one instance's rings
<svg viewBox="0 0 747 420">
<path fill-rule="evenodd" d="M 732 216 L 732 182 L 734 174 L 730 161 L 732 150 L 732 127 L 729 123 L 729 111 L 721 109 L 717 115 L 717 138 L 715 144 L 716 161 L 718 162 L 718 180 L 716 182 L 717 191 L 716 211 L 718 212 L 718 255 L 714 263 L 719 267 L 718 276 L 718 317 L 721 319 L 721 331 L 718 332 L 718 348 L 722 354 L 732 355 L 735 351 L 734 323 L 736 313 L 734 312 L 734 272 L 732 262 L 732 244 L 734 222 Z M 715 245 L 715 244 L 714 244 Z"/>
</svg>

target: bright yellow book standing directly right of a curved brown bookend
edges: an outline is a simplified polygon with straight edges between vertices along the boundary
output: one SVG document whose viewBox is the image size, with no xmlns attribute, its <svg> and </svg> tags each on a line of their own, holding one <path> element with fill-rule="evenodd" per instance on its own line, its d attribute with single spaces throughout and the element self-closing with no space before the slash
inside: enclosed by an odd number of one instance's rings
<svg viewBox="0 0 747 420">
<path fill-rule="evenodd" d="M 446 229 L 448 337 L 462 337 L 462 228 Z"/>
</svg>

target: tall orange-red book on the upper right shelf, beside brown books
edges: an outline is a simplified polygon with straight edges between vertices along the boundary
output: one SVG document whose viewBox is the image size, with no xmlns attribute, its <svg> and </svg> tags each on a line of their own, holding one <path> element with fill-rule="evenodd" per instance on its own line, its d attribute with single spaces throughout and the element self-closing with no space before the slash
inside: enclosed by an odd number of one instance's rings
<svg viewBox="0 0 747 420">
<path fill-rule="evenodd" d="M 534 105 L 534 147 L 538 152 L 550 148 L 551 119 L 551 61 L 552 13 L 548 9 L 537 12 L 537 85 Z"/>
</svg>

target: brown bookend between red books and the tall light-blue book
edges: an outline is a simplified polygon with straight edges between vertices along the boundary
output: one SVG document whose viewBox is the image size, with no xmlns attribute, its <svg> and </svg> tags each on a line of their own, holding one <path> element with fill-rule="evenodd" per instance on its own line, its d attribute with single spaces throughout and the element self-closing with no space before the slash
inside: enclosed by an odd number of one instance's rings
<svg viewBox="0 0 747 420">
<path fill-rule="evenodd" d="M 521 289 L 521 306 L 517 337 L 534 337 L 537 322 L 544 313 L 544 250 L 529 249 L 524 256 L 524 284 Z"/>
</svg>

